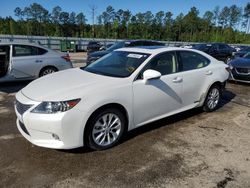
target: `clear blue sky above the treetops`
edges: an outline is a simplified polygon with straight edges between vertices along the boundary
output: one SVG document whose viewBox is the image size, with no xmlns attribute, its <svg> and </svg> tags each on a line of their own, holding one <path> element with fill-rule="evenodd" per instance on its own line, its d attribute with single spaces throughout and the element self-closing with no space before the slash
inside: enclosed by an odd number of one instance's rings
<svg viewBox="0 0 250 188">
<path fill-rule="evenodd" d="M 107 6 L 111 5 L 115 10 L 129 9 L 133 14 L 138 12 L 171 11 L 176 17 L 180 13 L 186 14 L 191 7 L 195 6 L 202 16 L 207 10 L 213 10 L 216 6 L 223 8 L 236 4 L 244 8 L 249 0 L 1 0 L 0 17 L 12 16 L 16 7 L 24 8 L 32 3 L 41 4 L 44 8 L 52 11 L 59 5 L 66 12 L 83 12 L 91 22 L 91 6 L 96 6 L 96 13 L 100 15 Z"/>
</svg>

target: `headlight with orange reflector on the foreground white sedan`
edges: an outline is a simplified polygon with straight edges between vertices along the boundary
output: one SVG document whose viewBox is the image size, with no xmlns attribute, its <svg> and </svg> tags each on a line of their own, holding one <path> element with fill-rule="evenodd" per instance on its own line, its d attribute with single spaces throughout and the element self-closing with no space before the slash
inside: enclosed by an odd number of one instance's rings
<svg viewBox="0 0 250 188">
<path fill-rule="evenodd" d="M 60 102 L 42 102 L 31 112 L 40 114 L 54 114 L 58 112 L 66 112 L 73 108 L 81 99 L 60 101 Z"/>
</svg>

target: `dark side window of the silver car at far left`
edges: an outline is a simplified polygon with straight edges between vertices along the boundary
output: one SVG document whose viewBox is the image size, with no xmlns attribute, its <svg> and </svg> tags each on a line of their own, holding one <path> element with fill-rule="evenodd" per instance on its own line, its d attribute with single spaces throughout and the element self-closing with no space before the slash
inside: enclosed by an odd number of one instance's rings
<svg viewBox="0 0 250 188">
<path fill-rule="evenodd" d="M 32 55 L 43 55 L 47 50 L 27 45 L 15 45 L 13 49 L 13 56 L 32 56 Z"/>
</svg>

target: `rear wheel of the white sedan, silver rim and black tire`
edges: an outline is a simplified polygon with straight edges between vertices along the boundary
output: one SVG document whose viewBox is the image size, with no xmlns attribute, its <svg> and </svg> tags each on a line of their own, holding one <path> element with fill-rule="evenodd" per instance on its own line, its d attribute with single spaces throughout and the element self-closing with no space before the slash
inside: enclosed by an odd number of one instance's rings
<svg viewBox="0 0 250 188">
<path fill-rule="evenodd" d="M 221 88 L 218 85 L 212 85 L 204 102 L 203 110 L 205 112 L 212 112 L 216 110 L 219 107 L 221 94 Z"/>
</svg>

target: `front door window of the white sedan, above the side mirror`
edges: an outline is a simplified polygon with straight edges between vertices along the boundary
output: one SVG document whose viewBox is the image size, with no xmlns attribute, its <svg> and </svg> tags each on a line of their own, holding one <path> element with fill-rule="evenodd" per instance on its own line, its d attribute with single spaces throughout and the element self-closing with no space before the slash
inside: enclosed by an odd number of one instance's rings
<svg viewBox="0 0 250 188">
<path fill-rule="evenodd" d="M 168 52 L 156 56 L 143 70 L 147 69 L 159 71 L 162 75 L 177 72 L 175 53 Z"/>
</svg>

